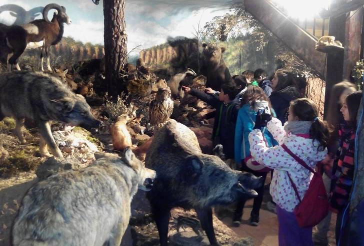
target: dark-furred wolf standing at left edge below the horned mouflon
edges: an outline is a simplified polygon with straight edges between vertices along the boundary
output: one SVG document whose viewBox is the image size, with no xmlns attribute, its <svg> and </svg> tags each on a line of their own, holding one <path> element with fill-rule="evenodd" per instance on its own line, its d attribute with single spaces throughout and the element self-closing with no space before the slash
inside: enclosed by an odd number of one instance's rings
<svg viewBox="0 0 364 246">
<path fill-rule="evenodd" d="M 40 154 L 49 157 L 47 145 L 55 157 L 62 157 L 50 131 L 51 120 L 81 126 L 87 130 L 101 121 L 91 115 L 90 106 L 58 78 L 42 72 L 15 71 L 0 74 L 0 120 L 13 117 L 15 133 L 21 144 L 24 119 L 33 122 L 40 133 Z"/>
</svg>

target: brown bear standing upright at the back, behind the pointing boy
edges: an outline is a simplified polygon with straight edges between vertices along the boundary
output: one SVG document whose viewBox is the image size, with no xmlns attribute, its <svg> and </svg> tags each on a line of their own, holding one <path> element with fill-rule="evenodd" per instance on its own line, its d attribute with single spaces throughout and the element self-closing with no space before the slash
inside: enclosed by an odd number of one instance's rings
<svg viewBox="0 0 364 246">
<path fill-rule="evenodd" d="M 222 59 L 225 48 L 206 43 L 202 47 L 201 73 L 207 77 L 206 87 L 220 91 L 221 84 L 231 80 L 229 69 Z"/>
</svg>

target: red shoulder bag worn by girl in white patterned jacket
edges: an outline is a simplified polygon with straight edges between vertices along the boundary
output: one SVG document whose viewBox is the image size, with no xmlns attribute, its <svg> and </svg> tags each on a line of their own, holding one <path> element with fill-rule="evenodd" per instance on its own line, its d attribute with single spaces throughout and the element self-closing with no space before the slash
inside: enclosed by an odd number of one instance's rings
<svg viewBox="0 0 364 246">
<path fill-rule="evenodd" d="M 313 173 L 308 190 L 301 200 L 298 195 L 297 188 L 290 178 L 289 173 L 287 172 L 289 181 L 299 200 L 299 204 L 294 208 L 293 211 L 294 215 L 296 216 L 297 223 L 300 227 L 313 227 L 322 221 L 322 219 L 325 218 L 328 213 L 328 198 L 321 173 L 319 170 L 315 172 L 302 159 L 293 154 L 284 144 L 282 144 L 281 147 L 300 165 Z"/>
</svg>

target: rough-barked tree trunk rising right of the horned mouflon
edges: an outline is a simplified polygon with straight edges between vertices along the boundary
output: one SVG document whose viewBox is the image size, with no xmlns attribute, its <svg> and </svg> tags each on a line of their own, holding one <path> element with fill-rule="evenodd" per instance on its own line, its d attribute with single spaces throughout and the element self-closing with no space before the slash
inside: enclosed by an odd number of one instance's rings
<svg viewBox="0 0 364 246">
<path fill-rule="evenodd" d="M 127 60 L 124 12 L 125 0 L 103 0 L 106 91 L 113 100 L 121 92 Z"/>
</svg>

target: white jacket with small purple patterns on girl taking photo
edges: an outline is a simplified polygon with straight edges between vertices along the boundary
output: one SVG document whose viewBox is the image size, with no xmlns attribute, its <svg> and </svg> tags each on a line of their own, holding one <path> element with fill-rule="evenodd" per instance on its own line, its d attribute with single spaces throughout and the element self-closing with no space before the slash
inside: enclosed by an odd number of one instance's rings
<svg viewBox="0 0 364 246">
<path fill-rule="evenodd" d="M 286 133 L 277 118 L 272 118 L 268 122 L 267 129 L 279 145 L 268 148 L 260 130 L 255 129 L 249 134 L 250 153 L 258 163 L 274 169 L 270 195 L 280 208 L 293 212 L 299 201 L 289 182 L 287 172 L 297 187 L 300 199 L 303 199 L 313 174 L 295 161 L 280 145 L 284 143 L 291 152 L 313 169 L 318 161 L 324 159 L 327 150 L 318 151 L 318 141 L 312 142 L 308 134 Z"/>
</svg>

